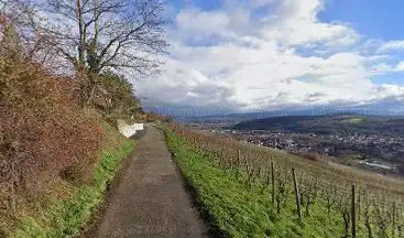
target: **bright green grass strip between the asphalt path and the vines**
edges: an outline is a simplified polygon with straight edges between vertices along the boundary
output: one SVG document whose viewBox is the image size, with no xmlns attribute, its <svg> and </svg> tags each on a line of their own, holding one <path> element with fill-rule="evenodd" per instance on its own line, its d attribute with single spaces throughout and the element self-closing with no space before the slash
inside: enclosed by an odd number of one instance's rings
<svg viewBox="0 0 404 238">
<path fill-rule="evenodd" d="M 183 139 L 165 131 L 168 147 L 186 180 L 195 188 L 204 209 L 228 237 L 342 237 L 343 223 L 337 210 L 328 216 L 320 201 L 297 221 L 294 196 L 276 214 L 269 188 L 259 185 L 250 190 L 236 180 L 233 173 L 221 170 L 212 158 L 195 151 Z M 291 192 L 292 193 L 292 192 Z M 359 228 L 362 234 L 363 229 Z M 359 236 L 362 237 L 362 236 Z"/>
</svg>

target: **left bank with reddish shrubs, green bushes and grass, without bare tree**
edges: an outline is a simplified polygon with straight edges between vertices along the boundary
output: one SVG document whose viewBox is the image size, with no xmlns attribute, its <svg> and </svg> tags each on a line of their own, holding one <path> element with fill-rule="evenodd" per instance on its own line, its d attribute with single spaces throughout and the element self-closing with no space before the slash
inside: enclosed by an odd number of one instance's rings
<svg viewBox="0 0 404 238">
<path fill-rule="evenodd" d="M 142 108 L 123 76 L 47 61 L 30 6 L 0 6 L 0 237 L 72 237 L 133 149 L 117 119 Z"/>
</svg>

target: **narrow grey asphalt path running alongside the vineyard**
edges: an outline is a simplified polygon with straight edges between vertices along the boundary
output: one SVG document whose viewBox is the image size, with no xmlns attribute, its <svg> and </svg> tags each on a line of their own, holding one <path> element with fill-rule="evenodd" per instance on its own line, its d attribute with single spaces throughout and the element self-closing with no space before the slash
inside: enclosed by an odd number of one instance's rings
<svg viewBox="0 0 404 238">
<path fill-rule="evenodd" d="M 148 127 L 86 237 L 208 237 L 163 133 Z"/>
</svg>

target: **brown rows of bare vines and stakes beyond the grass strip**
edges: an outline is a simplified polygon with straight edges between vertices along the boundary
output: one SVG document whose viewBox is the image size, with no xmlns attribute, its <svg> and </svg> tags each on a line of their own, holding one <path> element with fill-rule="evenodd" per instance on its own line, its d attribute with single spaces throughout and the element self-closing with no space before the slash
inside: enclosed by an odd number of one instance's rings
<svg viewBox="0 0 404 238">
<path fill-rule="evenodd" d="M 341 235 L 345 237 L 404 238 L 402 183 L 387 182 L 379 177 L 374 181 L 374 176 L 359 176 L 338 167 L 324 167 L 323 164 L 315 162 L 307 163 L 304 159 L 288 158 L 282 153 L 240 143 L 232 139 L 225 140 L 215 134 L 187 130 L 178 125 L 172 126 L 177 134 L 190 143 L 198 144 L 199 150 L 207 152 L 207 155 L 222 156 L 221 161 L 215 160 L 215 162 L 221 165 L 230 163 L 232 170 L 236 170 L 233 173 L 237 181 L 249 184 L 250 187 L 258 183 L 267 187 L 267 206 L 272 206 L 277 214 L 281 213 L 281 208 L 288 208 L 285 203 L 288 196 L 293 195 L 294 190 L 298 219 L 304 221 L 305 226 L 310 226 L 312 219 L 304 219 L 302 208 L 306 208 L 309 217 L 308 206 L 314 204 L 318 209 L 324 206 L 324 215 L 328 215 L 326 221 L 335 227 L 339 225 L 335 223 L 339 219 L 336 212 L 340 212 L 343 227 L 339 228 L 343 228 Z M 290 180 L 291 169 L 293 181 Z M 299 177 L 296 176 L 295 169 L 302 172 Z M 262 173 L 265 170 L 267 173 Z M 354 178 L 351 178 L 352 176 Z M 317 196 L 324 203 L 314 203 Z M 293 206 L 292 212 L 295 213 L 295 210 Z M 341 236 L 336 234 L 336 237 Z"/>
</svg>

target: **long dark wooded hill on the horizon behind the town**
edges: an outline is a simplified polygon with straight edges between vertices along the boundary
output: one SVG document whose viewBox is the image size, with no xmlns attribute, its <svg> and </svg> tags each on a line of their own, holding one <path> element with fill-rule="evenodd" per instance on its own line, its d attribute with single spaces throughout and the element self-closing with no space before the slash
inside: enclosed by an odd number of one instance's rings
<svg viewBox="0 0 404 238">
<path fill-rule="evenodd" d="M 285 116 L 248 120 L 233 126 L 237 130 L 269 130 L 303 133 L 404 133 L 404 118 L 386 116 L 331 115 Z"/>
</svg>

